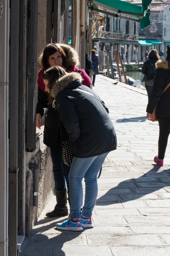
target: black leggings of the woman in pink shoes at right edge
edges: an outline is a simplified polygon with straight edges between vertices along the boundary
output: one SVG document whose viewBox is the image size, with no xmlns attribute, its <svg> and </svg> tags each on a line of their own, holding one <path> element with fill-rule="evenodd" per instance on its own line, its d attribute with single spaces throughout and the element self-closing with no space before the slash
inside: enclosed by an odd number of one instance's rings
<svg viewBox="0 0 170 256">
<path fill-rule="evenodd" d="M 170 117 L 157 116 L 159 122 L 158 158 L 164 159 L 170 135 Z"/>
</svg>

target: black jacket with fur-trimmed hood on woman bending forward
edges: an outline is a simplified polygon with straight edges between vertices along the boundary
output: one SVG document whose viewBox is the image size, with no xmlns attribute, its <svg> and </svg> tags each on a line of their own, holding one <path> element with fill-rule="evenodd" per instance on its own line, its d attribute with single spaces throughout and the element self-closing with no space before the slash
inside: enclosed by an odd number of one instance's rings
<svg viewBox="0 0 170 256">
<path fill-rule="evenodd" d="M 74 142 L 74 156 L 87 158 L 115 150 L 116 133 L 105 104 L 81 81 L 79 73 L 67 73 L 57 80 L 50 93 L 56 99 L 69 139 Z"/>
</svg>

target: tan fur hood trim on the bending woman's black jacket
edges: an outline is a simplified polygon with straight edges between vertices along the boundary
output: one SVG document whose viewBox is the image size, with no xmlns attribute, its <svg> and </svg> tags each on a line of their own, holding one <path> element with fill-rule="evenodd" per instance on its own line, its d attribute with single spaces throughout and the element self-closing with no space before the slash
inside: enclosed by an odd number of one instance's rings
<svg viewBox="0 0 170 256">
<path fill-rule="evenodd" d="M 75 80 L 82 82 L 82 76 L 77 72 L 67 73 L 65 76 L 59 78 L 51 89 L 51 97 L 55 99 L 60 91 L 64 90 L 68 84 Z"/>
</svg>

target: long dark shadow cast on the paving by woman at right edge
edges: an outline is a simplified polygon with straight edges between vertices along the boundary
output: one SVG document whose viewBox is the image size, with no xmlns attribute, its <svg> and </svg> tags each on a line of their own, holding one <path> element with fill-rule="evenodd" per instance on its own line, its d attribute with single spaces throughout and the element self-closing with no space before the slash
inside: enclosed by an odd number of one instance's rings
<svg viewBox="0 0 170 256">
<path fill-rule="evenodd" d="M 98 198 L 97 201 L 96 201 L 96 205 L 102 206 L 102 205 L 117 204 L 120 201 L 121 202 L 133 201 L 133 200 L 141 198 L 143 195 L 150 194 L 150 193 L 155 192 L 155 191 L 157 191 L 161 188 L 169 186 L 168 183 L 162 182 L 161 180 L 159 180 L 159 177 L 160 176 L 161 177 L 170 177 L 169 176 L 170 173 L 169 173 L 168 169 L 164 170 L 162 172 L 158 172 L 160 168 L 161 168 L 161 166 L 153 165 L 153 168 L 149 172 L 145 173 L 144 175 L 142 175 L 138 178 L 133 178 L 133 179 L 130 179 L 130 180 L 124 180 L 124 181 L 120 182 L 118 184 L 118 186 L 113 187 L 112 189 L 109 189 L 108 192 L 105 195 L 102 195 L 100 198 Z M 159 174 L 159 173 L 160 173 L 160 176 L 157 176 L 156 174 Z M 162 175 L 163 173 L 166 173 L 167 176 Z M 153 180 L 153 181 L 147 181 L 147 180 L 144 181 L 145 178 L 147 179 L 149 177 L 150 178 L 153 177 L 153 178 L 155 178 L 155 180 Z M 132 188 L 132 190 L 134 190 L 134 189 L 144 189 L 147 192 L 141 192 L 141 193 L 140 192 L 139 193 L 134 193 L 134 192 L 132 192 L 132 193 L 123 193 L 123 192 L 122 193 L 114 193 L 114 191 L 113 191 L 114 189 L 127 189 L 129 181 L 133 182 L 134 184 L 137 184 L 137 183 L 140 183 L 140 184 L 141 183 L 143 183 L 143 184 L 144 183 L 155 183 L 155 186 L 156 186 L 156 183 L 159 182 L 160 186 L 152 187 L 153 185 L 152 186 L 137 186 L 136 185 L 136 188 Z M 162 184 L 162 186 L 161 186 L 161 184 Z M 129 187 L 129 189 L 130 189 L 130 187 Z M 114 198 L 115 195 L 119 195 L 121 200 L 117 201 L 115 199 L 112 199 L 112 197 Z M 123 198 L 121 197 L 121 195 L 123 196 Z M 106 198 L 106 196 L 107 196 L 107 198 Z"/>
</svg>

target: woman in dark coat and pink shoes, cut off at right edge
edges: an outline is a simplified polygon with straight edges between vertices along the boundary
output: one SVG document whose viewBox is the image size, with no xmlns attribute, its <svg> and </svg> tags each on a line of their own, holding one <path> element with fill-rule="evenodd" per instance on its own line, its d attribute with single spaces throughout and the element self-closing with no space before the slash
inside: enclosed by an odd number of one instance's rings
<svg viewBox="0 0 170 256">
<path fill-rule="evenodd" d="M 167 58 L 156 63 L 156 76 L 153 84 L 153 91 L 147 105 L 147 119 L 152 120 L 151 114 L 156 107 L 156 116 L 159 122 L 158 155 L 154 162 L 163 166 L 164 156 L 167 148 L 167 141 L 170 134 L 170 87 L 162 91 L 170 83 L 170 45 L 167 46 Z M 161 96 L 161 98 L 160 98 Z"/>
</svg>

